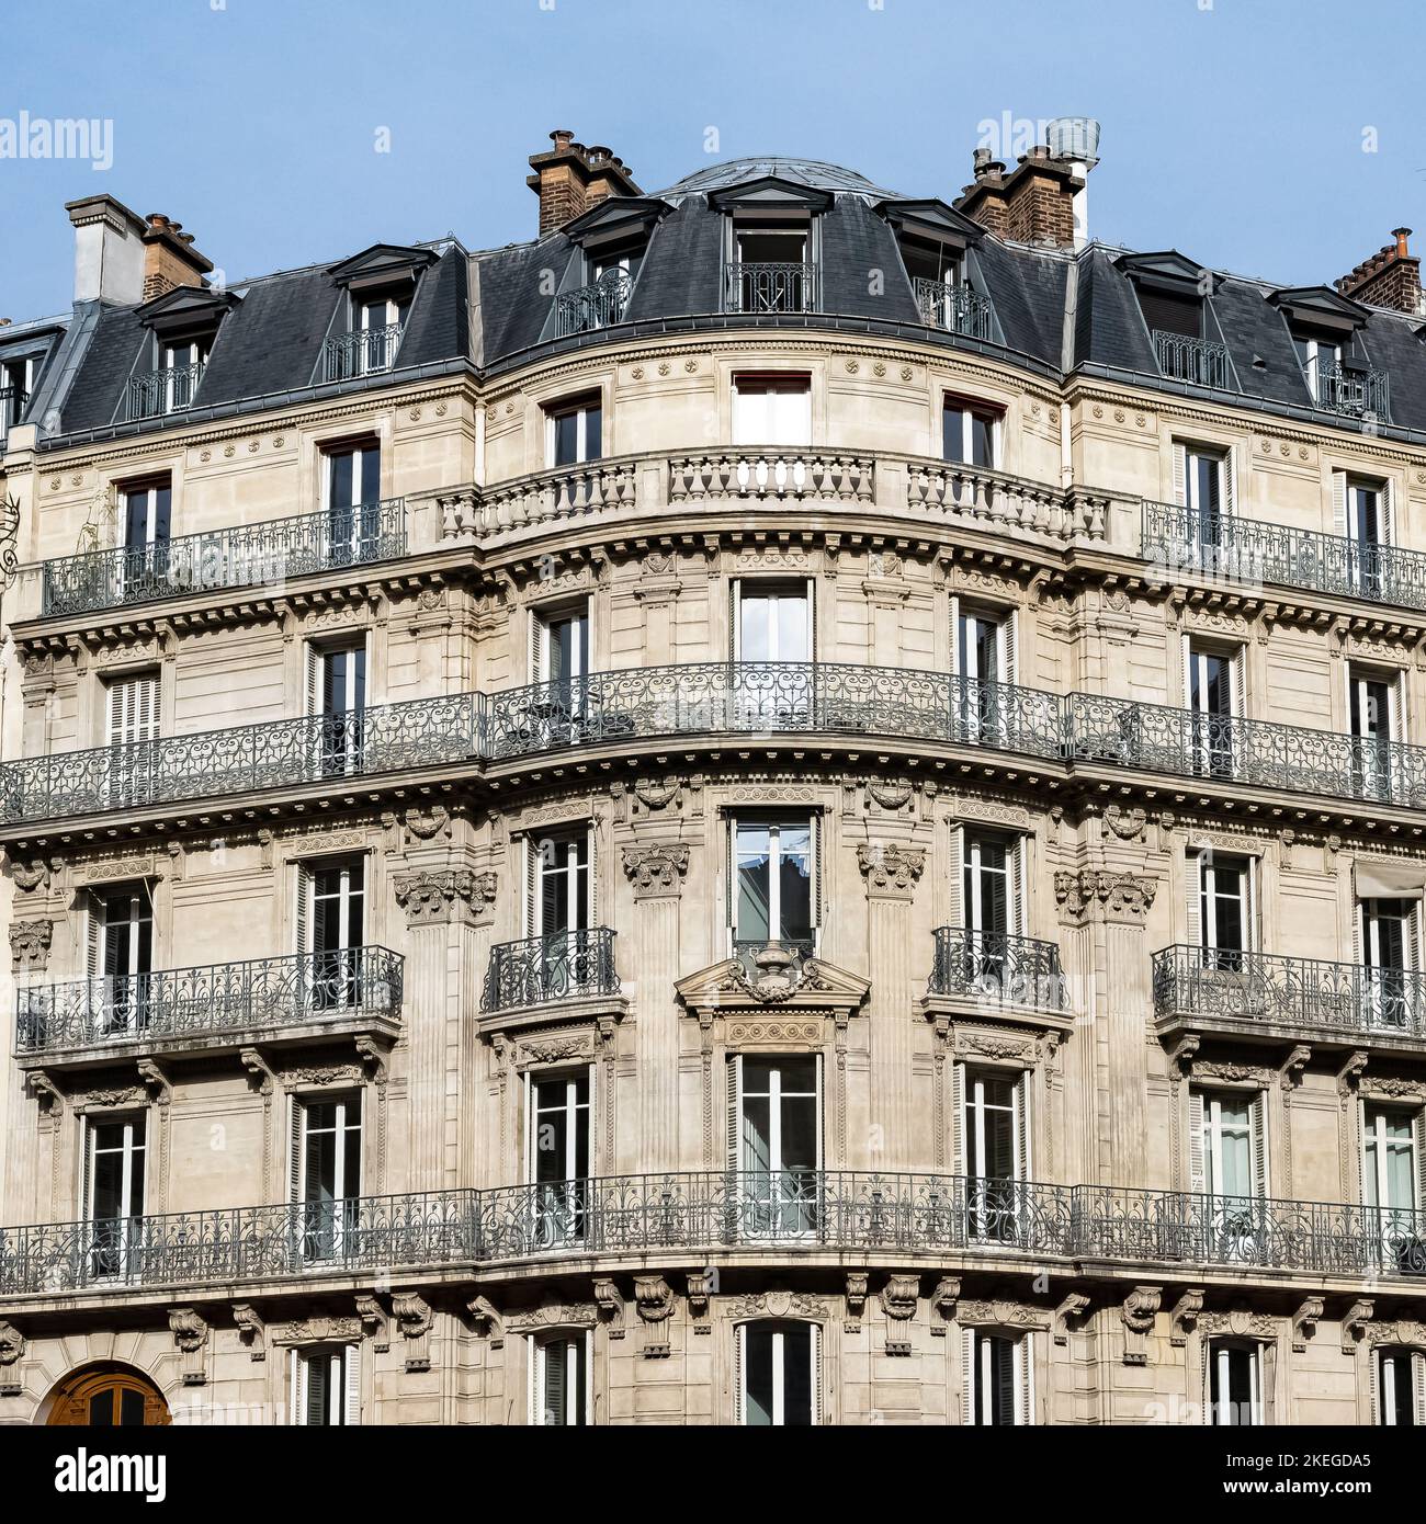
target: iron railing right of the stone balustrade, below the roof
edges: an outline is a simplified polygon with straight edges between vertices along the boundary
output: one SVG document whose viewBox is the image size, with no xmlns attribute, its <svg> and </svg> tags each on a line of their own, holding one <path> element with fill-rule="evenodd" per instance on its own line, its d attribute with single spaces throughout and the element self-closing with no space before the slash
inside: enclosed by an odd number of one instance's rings
<svg viewBox="0 0 1426 1524">
<path fill-rule="evenodd" d="M 1402 546 L 1145 501 L 1142 552 L 1168 572 L 1426 608 L 1426 555 Z"/>
</svg>

